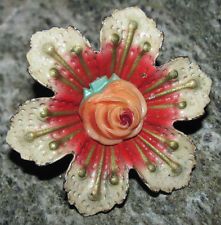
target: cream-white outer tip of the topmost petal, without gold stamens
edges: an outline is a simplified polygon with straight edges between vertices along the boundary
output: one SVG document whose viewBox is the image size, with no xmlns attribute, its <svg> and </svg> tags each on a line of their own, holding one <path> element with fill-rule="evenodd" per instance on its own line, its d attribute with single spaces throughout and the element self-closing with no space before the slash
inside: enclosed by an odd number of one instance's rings
<svg viewBox="0 0 221 225">
<path fill-rule="evenodd" d="M 151 44 L 150 54 L 155 59 L 159 53 L 163 35 L 156 28 L 156 23 L 137 7 L 115 10 L 111 17 L 104 20 L 100 33 L 101 46 L 111 41 L 113 33 L 118 34 L 121 40 L 125 41 L 130 21 L 136 21 L 138 24 L 132 45 L 142 47 L 144 42 L 148 41 Z"/>
</svg>

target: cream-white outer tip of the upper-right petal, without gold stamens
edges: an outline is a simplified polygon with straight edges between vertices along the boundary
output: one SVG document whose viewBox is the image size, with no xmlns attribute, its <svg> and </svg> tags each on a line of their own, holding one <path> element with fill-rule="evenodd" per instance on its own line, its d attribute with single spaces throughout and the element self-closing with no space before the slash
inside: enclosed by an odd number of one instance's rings
<svg viewBox="0 0 221 225">
<path fill-rule="evenodd" d="M 179 91 L 180 100 L 186 101 L 187 106 L 180 111 L 181 119 L 193 119 L 204 113 L 204 107 L 209 103 L 209 92 L 211 89 L 211 79 L 203 73 L 199 66 L 191 63 L 188 58 L 176 58 L 163 65 L 169 71 L 178 71 L 178 82 L 174 86 L 182 85 L 194 79 L 197 87 L 193 89 L 182 89 Z"/>
</svg>

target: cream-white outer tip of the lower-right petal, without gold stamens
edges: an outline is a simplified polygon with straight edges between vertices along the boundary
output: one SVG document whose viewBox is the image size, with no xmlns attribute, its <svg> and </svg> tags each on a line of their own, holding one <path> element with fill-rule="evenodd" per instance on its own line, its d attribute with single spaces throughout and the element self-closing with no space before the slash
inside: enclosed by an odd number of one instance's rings
<svg viewBox="0 0 221 225">
<path fill-rule="evenodd" d="M 137 169 L 145 184 L 153 191 L 171 192 L 189 183 L 195 165 L 195 146 L 180 132 L 176 134 L 176 141 L 179 143 L 179 148 L 171 153 L 169 157 L 181 166 L 182 172 L 180 174 L 174 174 L 171 168 L 162 160 L 159 160 L 155 172 L 150 172 L 147 168 Z"/>
</svg>

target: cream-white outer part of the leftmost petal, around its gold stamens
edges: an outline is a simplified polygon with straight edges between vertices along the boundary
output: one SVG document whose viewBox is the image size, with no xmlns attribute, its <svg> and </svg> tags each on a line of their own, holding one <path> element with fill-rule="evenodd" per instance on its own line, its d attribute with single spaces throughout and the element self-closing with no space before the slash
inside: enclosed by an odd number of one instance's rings
<svg viewBox="0 0 221 225">
<path fill-rule="evenodd" d="M 18 113 L 12 118 L 6 139 L 12 148 L 21 154 L 23 159 L 35 161 L 38 165 L 57 161 L 73 152 L 73 149 L 78 146 L 76 143 L 75 146 L 64 145 L 56 150 L 50 150 L 49 143 L 54 140 L 51 132 L 34 139 L 28 136 L 30 132 L 62 126 L 56 121 L 51 121 L 49 124 L 40 117 L 41 110 L 48 106 L 49 101 L 49 98 L 33 99 L 22 105 Z M 62 123 L 67 122 L 64 119 Z M 60 129 L 55 135 L 59 136 L 62 133 L 64 133 L 64 129 Z"/>
</svg>

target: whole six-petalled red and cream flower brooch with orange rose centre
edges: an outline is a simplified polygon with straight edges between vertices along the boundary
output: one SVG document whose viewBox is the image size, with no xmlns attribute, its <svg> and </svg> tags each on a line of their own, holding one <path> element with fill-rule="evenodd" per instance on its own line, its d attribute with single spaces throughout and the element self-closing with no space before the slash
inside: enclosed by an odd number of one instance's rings
<svg viewBox="0 0 221 225">
<path fill-rule="evenodd" d="M 73 154 L 64 188 L 84 215 L 121 203 L 130 169 L 153 191 L 189 182 L 195 147 L 173 123 L 203 114 L 211 80 L 187 58 L 155 66 L 162 40 L 135 7 L 105 19 L 100 51 L 72 27 L 31 38 L 30 74 L 55 95 L 22 105 L 7 142 L 38 165 Z"/>
</svg>

